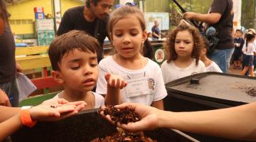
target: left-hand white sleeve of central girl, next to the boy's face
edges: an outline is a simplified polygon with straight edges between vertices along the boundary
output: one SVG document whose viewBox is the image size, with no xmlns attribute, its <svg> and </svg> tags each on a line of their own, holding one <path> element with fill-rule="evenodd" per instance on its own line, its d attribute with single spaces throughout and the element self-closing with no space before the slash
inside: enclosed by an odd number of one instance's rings
<svg viewBox="0 0 256 142">
<path fill-rule="evenodd" d="M 105 80 L 105 75 L 107 73 L 107 65 L 105 62 L 99 63 L 99 77 L 97 80 L 96 93 L 97 94 L 107 94 L 107 81 Z"/>
</svg>

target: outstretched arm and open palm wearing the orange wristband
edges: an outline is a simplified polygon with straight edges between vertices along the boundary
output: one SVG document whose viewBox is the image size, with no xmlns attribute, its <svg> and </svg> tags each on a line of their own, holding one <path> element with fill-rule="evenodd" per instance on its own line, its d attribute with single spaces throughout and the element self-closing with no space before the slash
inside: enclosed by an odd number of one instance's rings
<svg viewBox="0 0 256 142">
<path fill-rule="evenodd" d="M 62 102 L 64 104 L 61 104 Z M 48 103 L 52 104 L 52 106 Z M 68 103 L 59 99 L 58 102 L 50 100 L 32 107 L 28 112 L 32 121 L 57 121 L 78 113 L 83 107 L 85 107 L 85 102 Z M 3 141 L 4 138 L 21 128 L 23 124 L 20 108 L 0 106 L 0 112 L 0 141 Z"/>
</svg>

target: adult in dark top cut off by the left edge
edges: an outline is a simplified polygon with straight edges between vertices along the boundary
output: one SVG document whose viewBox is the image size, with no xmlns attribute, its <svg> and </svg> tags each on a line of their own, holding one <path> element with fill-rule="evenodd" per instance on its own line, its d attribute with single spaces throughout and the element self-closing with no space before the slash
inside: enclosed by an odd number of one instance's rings
<svg viewBox="0 0 256 142">
<path fill-rule="evenodd" d="M 16 72 L 21 72 L 21 67 L 16 64 L 14 35 L 8 18 L 4 0 L 0 0 L 0 89 L 8 94 L 11 106 L 18 107 Z M 6 98 L 0 96 L 0 99 Z"/>
</svg>

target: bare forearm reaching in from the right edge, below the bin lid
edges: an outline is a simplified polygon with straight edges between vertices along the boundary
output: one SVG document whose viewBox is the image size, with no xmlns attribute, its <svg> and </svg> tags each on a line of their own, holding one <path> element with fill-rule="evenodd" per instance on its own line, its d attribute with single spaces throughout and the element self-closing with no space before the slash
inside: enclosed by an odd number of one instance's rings
<svg viewBox="0 0 256 142">
<path fill-rule="evenodd" d="M 256 103 L 240 107 L 195 112 L 168 112 L 159 126 L 225 138 L 256 140 Z"/>
</svg>

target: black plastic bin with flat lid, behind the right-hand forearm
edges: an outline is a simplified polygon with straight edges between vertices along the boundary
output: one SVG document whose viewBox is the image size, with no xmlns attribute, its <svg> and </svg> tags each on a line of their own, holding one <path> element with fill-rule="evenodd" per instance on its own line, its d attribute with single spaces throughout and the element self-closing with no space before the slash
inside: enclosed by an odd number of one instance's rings
<svg viewBox="0 0 256 142">
<path fill-rule="evenodd" d="M 199 80 L 199 84 L 191 84 L 192 79 Z M 164 99 L 164 108 L 168 111 L 203 111 L 256 102 L 256 97 L 248 95 L 239 88 L 245 85 L 256 87 L 256 78 L 218 72 L 204 72 L 183 77 L 166 84 L 168 96 Z M 233 141 L 187 134 L 198 141 Z"/>
</svg>

